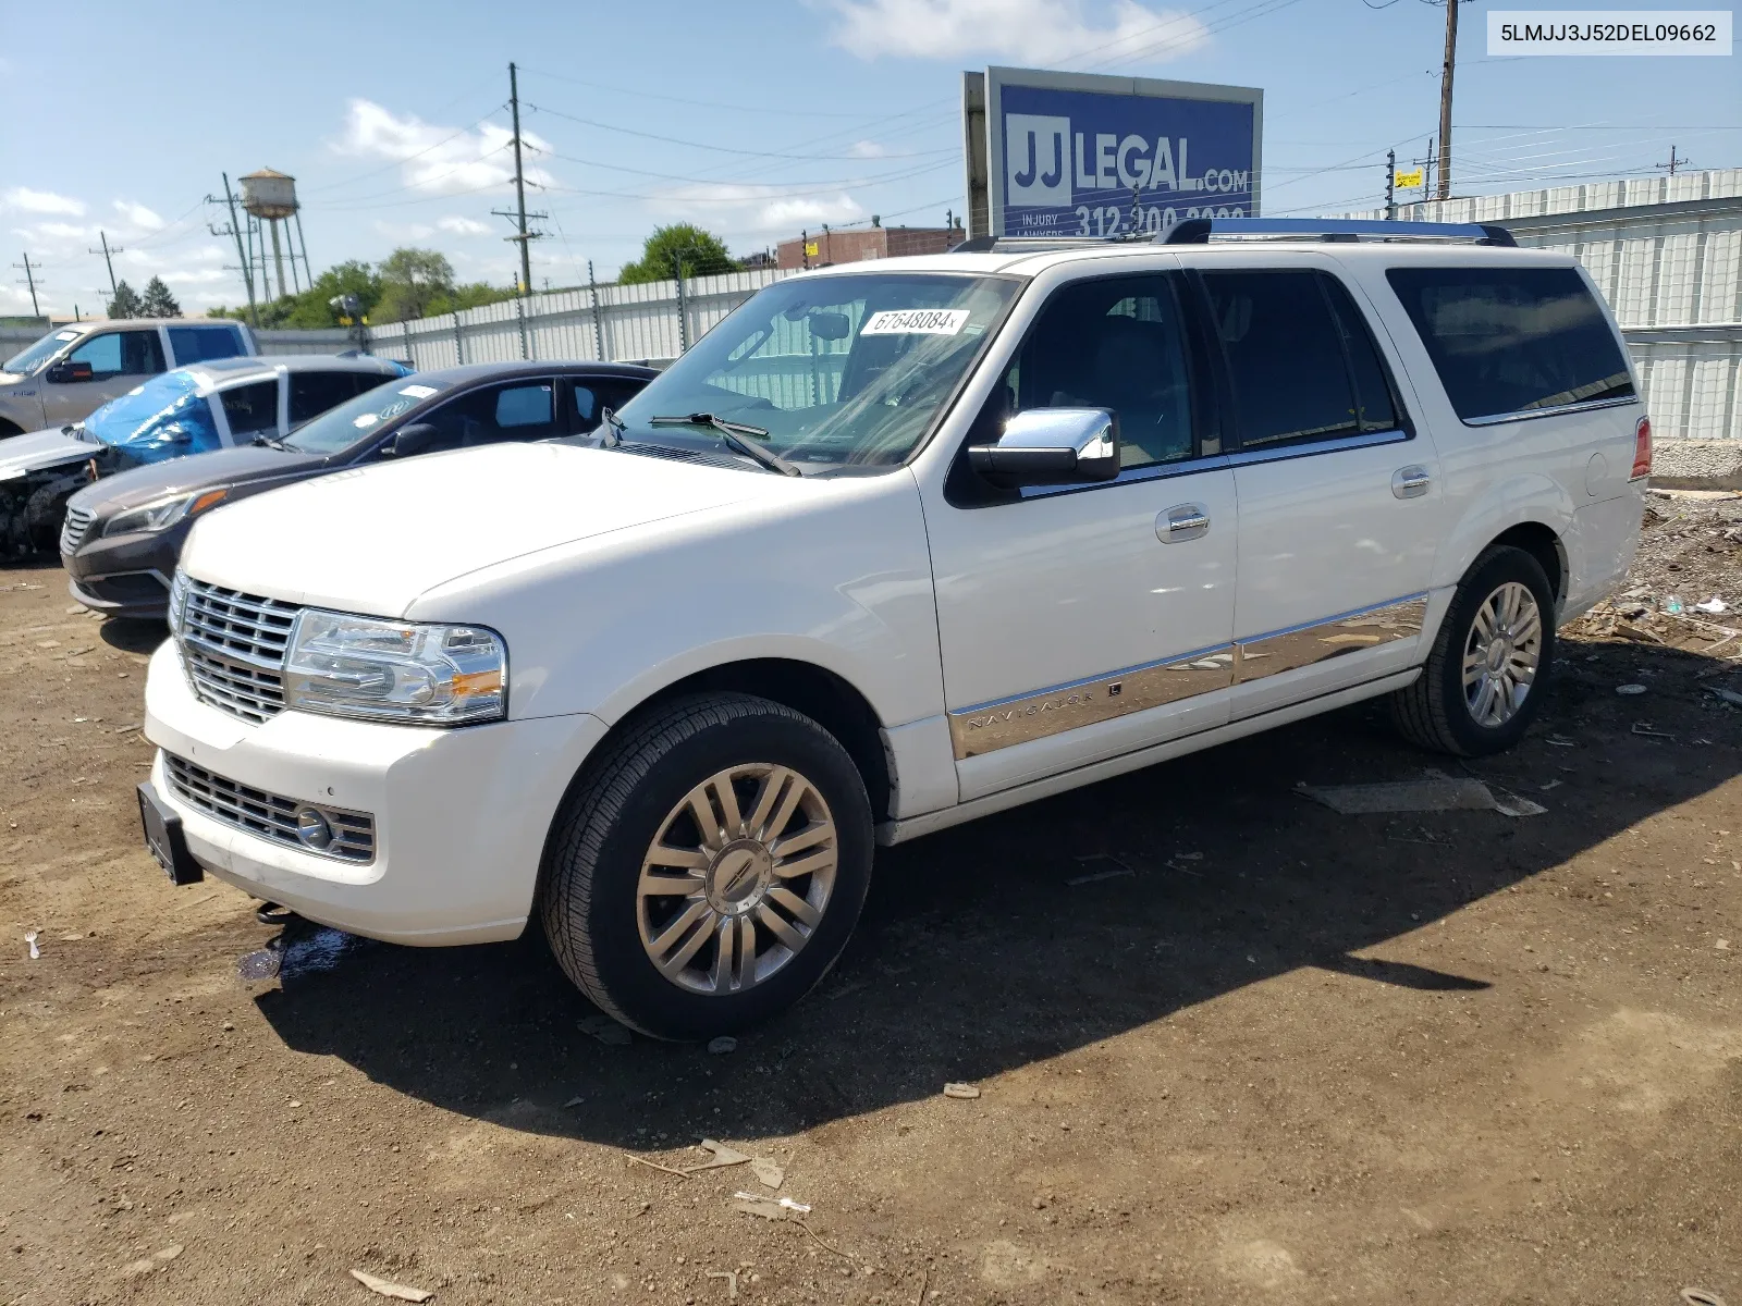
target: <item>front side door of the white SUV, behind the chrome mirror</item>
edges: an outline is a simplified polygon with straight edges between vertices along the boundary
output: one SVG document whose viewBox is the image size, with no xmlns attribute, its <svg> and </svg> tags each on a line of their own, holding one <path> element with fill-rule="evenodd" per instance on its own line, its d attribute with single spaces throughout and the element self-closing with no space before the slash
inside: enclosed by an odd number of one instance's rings
<svg viewBox="0 0 1742 1306">
<path fill-rule="evenodd" d="M 1226 721 L 1233 474 L 1179 305 L 1169 273 L 1059 287 L 970 435 L 1106 407 L 1117 481 L 1000 495 L 962 460 L 927 507 L 963 799 Z"/>
</svg>

